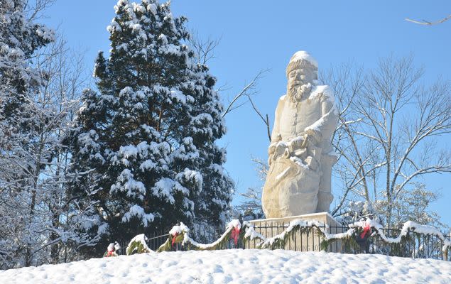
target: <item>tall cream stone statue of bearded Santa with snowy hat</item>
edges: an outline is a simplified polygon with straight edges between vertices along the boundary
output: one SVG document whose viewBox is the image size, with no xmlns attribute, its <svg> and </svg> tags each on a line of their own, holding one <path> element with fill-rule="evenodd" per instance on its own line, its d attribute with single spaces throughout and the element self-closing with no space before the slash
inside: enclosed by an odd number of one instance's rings
<svg viewBox="0 0 451 284">
<path fill-rule="evenodd" d="M 327 212 L 333 199 L 335 99 L 328 86 L 316 85 L 317 62 L 305 51 L 293 55 L 286 73 L 287 94 L 278 101 L 268 148 L 262 196 L 266 218 Z"/>
</svg>

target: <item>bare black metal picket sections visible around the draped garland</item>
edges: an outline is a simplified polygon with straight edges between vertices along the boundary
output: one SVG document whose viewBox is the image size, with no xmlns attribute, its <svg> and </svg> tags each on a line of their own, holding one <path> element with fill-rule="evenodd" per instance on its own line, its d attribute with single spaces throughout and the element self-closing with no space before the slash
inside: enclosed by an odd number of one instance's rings
<svg viewBox="0 0 451 284">
<path fill-rule="evenodd" d="M 287 224 L 280 225 L 258 225 L 255 226 L 255 231 L 263 234 L 264 236 L 276 236 L 281 234 L 282 231 L 287 229 Z M 328 226 L 327 231 L 329 234 L 341 234 L 349 230 L 347 226 Z M 202 239 L 204 243 L 212 243 L 216 241 L 219 236 L 222 235 L 224 229 L 212 229 L 213 231 L 204 234 L 202 228 L 195 228 L 190 233 L 192 236 L 207 236 Z M 326 226 L 322 229 L 326 230 Z M 395 238 L 401 234 L 401 229 L 383 229 L 384 234 L 387 237 Z M 451 239 L 450 232 L 442 232 L 445 239 L 448 241 Z M 152 251 L 156 251 L 165 241 L 168 240 L 168 231 L 160 231 L 148 236 L 147 245 Z M 322 251 L 324 249 L 322 244 L 322 235 L 318 234 L 317 228 L 308 227 L 303 231 L 296 231 L 285 244 L 284 249 L 292 251 Z M 261 244 L 261 240 L 239 240 L 238 244 L 234 244 L 234 240 L 230 239 L 223 249 L 256 249 Z M 357 246 L 355 245 L 357 244 Z M 128 243 L 121 244 L 125 254 L 125 248 Z M 349 242 L 337 240 L 328 244 L 325 251 L 337 252 L 337 253 L 370 253 L 370 254 L 383 254 L 386 256 L 401 256 L 411 258 L 443 258 L 443 241 L 438 239 L 437 236 L 430 236 L 424 234 L 417 234 L 413 231 L 408 232 L 407 238 L 401 243 L 387 243 L 379 235 L 369 236 L 364 239 L 355 239 L 354 245 Z M 187 248 L 181 244 L 174 244 L 172 251 L 185 251 Z M 451 261 L 451 253 L 447 255 L 447 261 Z"/>
</svg>

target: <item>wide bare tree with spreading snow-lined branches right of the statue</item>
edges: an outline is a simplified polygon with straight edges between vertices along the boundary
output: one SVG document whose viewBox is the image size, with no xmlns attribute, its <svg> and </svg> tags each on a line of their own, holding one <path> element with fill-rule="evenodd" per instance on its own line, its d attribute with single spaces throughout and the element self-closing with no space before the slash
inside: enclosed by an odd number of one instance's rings
<svg viewBox="0 0 451 284">
<path fill-rule="evenodd" d="M 352 192 L 372 208 L 385 200 L 390 225 L 393 202 L 415 180 L 451 172 L 450 152 L 437 143 L 451 130 L 451 87 L 443 81 L 424 87 L 422 76 L 412 58 L 387 58 L 365 77 L 361 70 L 353 75 L 349 66 L 322 77 L 335 90 L 341 110 L 334 144 L 344 193 L 334 214 Z"/>
</svg>

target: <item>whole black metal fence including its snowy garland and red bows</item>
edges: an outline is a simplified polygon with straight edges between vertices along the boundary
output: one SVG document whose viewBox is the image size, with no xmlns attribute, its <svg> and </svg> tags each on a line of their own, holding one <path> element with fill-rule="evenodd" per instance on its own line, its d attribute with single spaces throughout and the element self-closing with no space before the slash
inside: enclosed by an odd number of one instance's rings
<svg viewBox="0 0 451 284">
<path fill-rule="evenodd" d="M 435 258 L 451 261 L 451 235 L 432 226 L 406 222 L 401 229 L 386 229 L 372 220 L 349 226 L 328 226 L 321 222 L 294 220 L 289 224 L 242 225 L 233 220 L 222 229 L 208 228 L 207 233 L 190 231 L 187 226 L 173 226 L 170 231 L 148 236 L 152 251 L 212 249 L 290 249 L 293 251 L 332 251 L 371 253 L 411 258 Z M 205 229 L 205 228 L 203 228 Z M 259 234 L 261 232 L 262 234 Z M 273 236 L 272 238 L 265 238 Z M 191 236 L 209 236 L 210 244 L 200 244 Z M 309 243 L 310 242 L 310 243 Z M 127 246 L 127 244 L 125 244 Z M 122 246 L 122 247 L 125 247 Z"/>
</svg>

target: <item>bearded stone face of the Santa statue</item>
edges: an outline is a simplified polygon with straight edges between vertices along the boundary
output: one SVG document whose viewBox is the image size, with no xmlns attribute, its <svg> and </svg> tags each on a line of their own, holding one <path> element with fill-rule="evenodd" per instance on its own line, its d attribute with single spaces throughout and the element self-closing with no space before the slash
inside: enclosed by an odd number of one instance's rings
<svg viewBox="0 0 451 284">
<path fill-rule="evenodd" d="M 311 68 L 300 67 L 288 73 L 288 97 L 291 102 L 307 99 L 317 79 L 317 72 Z"/>
</svg>

